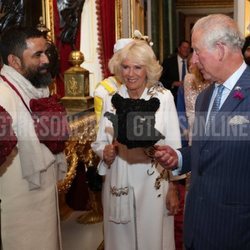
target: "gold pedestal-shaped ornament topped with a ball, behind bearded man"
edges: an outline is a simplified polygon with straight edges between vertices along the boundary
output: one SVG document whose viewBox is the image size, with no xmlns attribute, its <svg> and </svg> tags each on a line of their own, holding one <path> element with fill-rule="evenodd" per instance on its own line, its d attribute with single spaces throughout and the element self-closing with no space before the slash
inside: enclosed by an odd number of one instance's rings
<svg viewBox="0 0 250 250">
<path fill-rule="evenodd" d="M 69 62 L 73 66 L 64 72 L 65 96 L 62 102 L 69 112 L 90 109 L 94 99 L 89 96 L 89 71 L 80 66 L 84 62 L 83 53 L 72 51 Z"/>
</svg>

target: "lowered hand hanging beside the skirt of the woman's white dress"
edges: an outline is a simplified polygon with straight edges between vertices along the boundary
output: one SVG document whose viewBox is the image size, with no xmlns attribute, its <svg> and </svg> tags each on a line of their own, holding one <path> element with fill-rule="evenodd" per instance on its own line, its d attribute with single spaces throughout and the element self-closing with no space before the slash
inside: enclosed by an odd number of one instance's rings
<svg viewBox="0 0 250 250">
<path fill-rule="evenodd" d="M 179 212 L 180 198 L 177 183 L 169 183 L 168 192 L 166 196 L 166 206 L 169 211 L 169 215 L 175 215 Z"/>
</svg>

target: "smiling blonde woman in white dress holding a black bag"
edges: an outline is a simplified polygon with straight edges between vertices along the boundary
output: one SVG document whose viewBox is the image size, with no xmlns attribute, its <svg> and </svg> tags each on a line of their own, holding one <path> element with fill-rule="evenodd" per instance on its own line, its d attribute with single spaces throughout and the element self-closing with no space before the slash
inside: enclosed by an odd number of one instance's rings
<svg viewBox="0 0 250 250">
<path fill-rule="evenodd" d="M 174 99 L 159 85 L 162 67 L 148 43 L 133 40 L 113 55 L 109 68 L 122 83 L 118 93 L 123 98 L 159 99 L 155 128 L 165 139 L 157 143 L 179 148 Z M 111 98 L 107 96 L 103 113 L 115 114 Z M 173 215 L 179 205 L 174 184 L 161 176 L 161 166 L 152 166 L 144 148 L 128 149 L 114 139 L 112 123 L 102 115 L 92 148 L 106 168 L 102 171 L 105 249 L 174 250 Z"/>
</svg>

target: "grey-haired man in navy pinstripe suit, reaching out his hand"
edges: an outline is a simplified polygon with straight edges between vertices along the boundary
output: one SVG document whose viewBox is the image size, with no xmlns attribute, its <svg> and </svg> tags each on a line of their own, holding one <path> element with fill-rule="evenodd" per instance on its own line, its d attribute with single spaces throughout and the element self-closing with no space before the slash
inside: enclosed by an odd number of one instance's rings
<svg viewBox="0 0 250 250">
<path fill-rule="evenodd" d="M 243 43 L 226 15 L 196 22 L 192 60 L 214 84 L 197 98 L 192 146 L 156 147 L 155 159 L 165 168 L 192 170 L 184 219 L 187 250 L 250 249 L 250 67 Z"/>
</svg>

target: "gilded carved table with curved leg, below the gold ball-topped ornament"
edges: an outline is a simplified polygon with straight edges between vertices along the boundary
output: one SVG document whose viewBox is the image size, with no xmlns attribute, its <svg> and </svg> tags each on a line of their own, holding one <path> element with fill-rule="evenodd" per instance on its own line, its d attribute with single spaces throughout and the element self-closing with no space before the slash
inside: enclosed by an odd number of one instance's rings
<svg viewBox="0 0 250 250">
<path fill-rule="evenodd" d="M 60 199 L 60 216 L 66 219 L 72 210 L 67 207 L 65 194 L 68 192 L 76 175 L 76 168 L 79 161 L 88 167 L 96 167 L 99 158 L 91 149 L 91 143 L 96 137 L 96 116 L 94 112 L 86 113 L 79 117 L 69 117 L 71 136 L 67 142 L 65 154 L 68 160 L 68 172 L 64 180 L 58 182 L 59 199 Z M 83 213 L 77 221 L 83 224 L 92 224 L 101 222 L 102 203 L 101 192 L 89 190 L 91 210 Z"/>
</svg>

